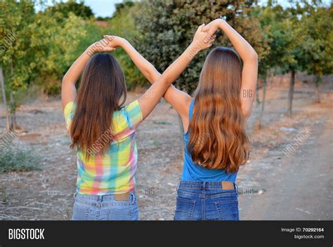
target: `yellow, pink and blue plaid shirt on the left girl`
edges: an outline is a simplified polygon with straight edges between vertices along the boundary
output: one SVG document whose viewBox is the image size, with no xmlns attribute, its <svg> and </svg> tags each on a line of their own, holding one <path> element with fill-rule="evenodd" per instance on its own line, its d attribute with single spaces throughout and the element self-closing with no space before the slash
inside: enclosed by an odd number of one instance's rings
<svg viewBox="0 0 333 247">
<path fill-rule="evenodd" d="M 67 129 L 77 105 L 69 102 L 64 110 Z M 77 151 L 77 192 L 79 194 L 123 194 L 134 189 L 138 149 L 135 131 L 143 121 L 138 100 L 113 114 L 112 133 L 115 139 L 104 155 L 96 154 L 85 159 L 85 152 Z"/>
</svg>

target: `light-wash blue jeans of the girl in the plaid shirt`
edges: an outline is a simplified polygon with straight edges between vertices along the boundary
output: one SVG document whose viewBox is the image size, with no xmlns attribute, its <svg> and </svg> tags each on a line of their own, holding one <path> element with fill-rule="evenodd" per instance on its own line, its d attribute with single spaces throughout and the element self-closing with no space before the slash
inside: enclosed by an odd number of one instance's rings
<svg viewBox="0 0 333 247">
<path fill-rule="evenodd" d="M 72 220 L 138 220 L 136 194 L 129 201 L 116 201 L 114 195 L 75 194 Z"/>
</svg>

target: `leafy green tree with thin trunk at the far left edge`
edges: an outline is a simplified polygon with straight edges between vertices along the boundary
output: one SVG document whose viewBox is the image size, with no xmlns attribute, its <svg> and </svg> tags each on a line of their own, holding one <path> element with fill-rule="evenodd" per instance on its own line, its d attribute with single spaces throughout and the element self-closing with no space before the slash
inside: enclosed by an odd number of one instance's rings
<svg viewBox="0 0 333 247">
<path fill-rule="evenodd" d="M 0 7 L 0 40 L 10 41 L 1 46 L 0 67 L 7 88 L 3 90 L 11 99 L 10 128 L 15 129 L 15 111 L 22 102 L 20 92 L 49 76 L 60 78 L 77 56 L 73 51 L 85 32 L 81 19 L 72 13 L 68 18 L 47 10 L 36 14 L 34 1 L 0 1 Z M 9 34 L 13 34 L 12 39 Z"/>
</svg>

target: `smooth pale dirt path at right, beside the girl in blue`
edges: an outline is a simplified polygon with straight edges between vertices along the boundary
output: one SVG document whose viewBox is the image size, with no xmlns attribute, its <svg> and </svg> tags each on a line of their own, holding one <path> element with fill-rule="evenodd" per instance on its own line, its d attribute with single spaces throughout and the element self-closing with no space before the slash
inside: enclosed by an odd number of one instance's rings
<svg viewBox="0 0 333 247">
<path fill-rule="evenodd" d="M 251 193 L 250 186 L 240 195 L 242 220 L 333 220 L 332 107 L 309 110 L 321 114 L 319 119 L 305 122 L 311 135 L 296 152 L 277 159 L 281 153 L 272 150 L 260 161 L 270 164 L 267 169 L 247 173 L 247 177 L 256 178 L 256 189 Z M 290 135 L 289 141 L 296 134 Z M 260 189 L 263 194 L 257 193 Z"/>
</svg>

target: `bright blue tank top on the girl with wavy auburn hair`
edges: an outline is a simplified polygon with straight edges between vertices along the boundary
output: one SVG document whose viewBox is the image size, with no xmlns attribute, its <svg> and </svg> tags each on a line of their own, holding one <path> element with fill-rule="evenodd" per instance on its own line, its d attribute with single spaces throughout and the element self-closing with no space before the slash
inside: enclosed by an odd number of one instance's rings
<svg viewBox="0 0 333 247">
<path fill-rule="evenodd" d="M 188 121 L 190 122 L 193 114 L 194 101 L 190 104 L 190 109 L 188 113 Z M 188 153 L 188 132 L 183 133 L 184 135 L 184 146 L 185 146 L 185 156 L 183 164 L 183 173 L 181 175 L 181 180 L 186 181 L 231 181 L 236 182 L 237 173 L 226 173 L 221 169 L 207 169 L 202 168 L 196 163 L 193 163 L 192 157 Z"/>
</svg>

